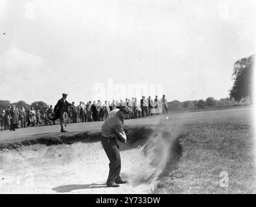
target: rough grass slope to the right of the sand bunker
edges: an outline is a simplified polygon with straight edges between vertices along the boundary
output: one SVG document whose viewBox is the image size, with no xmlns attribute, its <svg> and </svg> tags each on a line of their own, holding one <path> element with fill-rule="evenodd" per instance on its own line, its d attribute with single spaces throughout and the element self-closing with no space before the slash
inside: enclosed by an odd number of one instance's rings
<svg viewBox="0 0 256 207">
<path fill-rule="evenodd" d="M 204 122 L 184 124 L 179 168 L 161 179 L 154 193 L 255 193 L 253 127 L 250 117 L 239 110 L 225 119 L 216 119 L 223 116 L 216 111 Z M 228 173 L 226 188 L 219 184 L 222 171 Z"/>
</svg>

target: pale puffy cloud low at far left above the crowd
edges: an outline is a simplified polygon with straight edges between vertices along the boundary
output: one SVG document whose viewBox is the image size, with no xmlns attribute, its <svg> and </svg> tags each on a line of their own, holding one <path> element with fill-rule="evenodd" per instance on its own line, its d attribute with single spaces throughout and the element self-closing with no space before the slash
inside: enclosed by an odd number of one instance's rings
<svg viewBox="0 0 256 207">
<path fill-rule="evenodd" d="M 55 87 L 57 90 L 61 88 L 60 84 L 56 84 L 59 82 L 56 72 L 47 67 L 40 56 L 15 47 L 1 54 L 0 69 L 0 76 L 3 78 L 0 96 L 12 102 L 49 100 L 52 96 L 49 87 Z M 47 90 L 46 86 L 49 86 Z"/>
</svg>

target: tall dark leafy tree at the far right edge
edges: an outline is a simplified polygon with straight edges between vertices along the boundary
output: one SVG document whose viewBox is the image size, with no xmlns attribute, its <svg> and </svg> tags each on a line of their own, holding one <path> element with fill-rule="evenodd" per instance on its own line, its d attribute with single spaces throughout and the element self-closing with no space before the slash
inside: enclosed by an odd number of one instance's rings
<svg viewBox="0 0 256 207">
<path fill-rule="evenodd" d="M 252 70 L 253 70 L 254 55 L 248 58 L 242 58 L 235 62 L 233 72 L 233 87 L 230 90 L 229 96 L 239 102 L 244 98 L 252 100 Z"/>
</svg>

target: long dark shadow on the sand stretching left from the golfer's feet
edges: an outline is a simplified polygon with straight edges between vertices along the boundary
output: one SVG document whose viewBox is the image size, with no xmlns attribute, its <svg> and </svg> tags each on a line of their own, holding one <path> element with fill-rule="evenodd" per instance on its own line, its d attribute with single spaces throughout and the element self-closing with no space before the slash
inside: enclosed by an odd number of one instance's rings
<svg viewBox="0 0 256 207">
<path fill-rule="evenodd" d="M 89 189 L 89 188 L 108 188 L 106 184 L 71 184 L 66 186 L 58 186 L 56 188 L 52 188 L 52 190 L 58 192 L 58 193 L 68 193 L 73 190 L 80 190 L 80 189 Z"/>
</svg>

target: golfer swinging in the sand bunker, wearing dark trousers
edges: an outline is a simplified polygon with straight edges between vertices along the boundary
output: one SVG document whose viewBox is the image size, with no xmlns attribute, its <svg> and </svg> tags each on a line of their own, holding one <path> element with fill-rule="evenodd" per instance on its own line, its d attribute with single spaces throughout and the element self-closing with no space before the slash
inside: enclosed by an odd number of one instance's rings
<svg viewBox="0 0 256 207">
<path fill-rule="evenodd" d="M 120 177 L 121 158 L 119 153 L 119 145 L 117 139 L 126 143 L 126 134 L 124 133 L 124 118 L 127 118 L 131 113 L 127 106 L 122 106 L 120 109 L 113 109 L 107 116 L 104 124 L 101 127 L 102 146 L 110 160 L 110 173 L 108 174 L 107 186 L 119 187 L 119 184 L 124 184 L 127 181 Z"/>
</svg>

